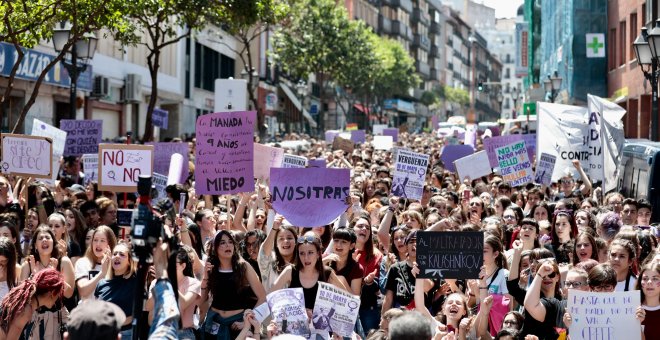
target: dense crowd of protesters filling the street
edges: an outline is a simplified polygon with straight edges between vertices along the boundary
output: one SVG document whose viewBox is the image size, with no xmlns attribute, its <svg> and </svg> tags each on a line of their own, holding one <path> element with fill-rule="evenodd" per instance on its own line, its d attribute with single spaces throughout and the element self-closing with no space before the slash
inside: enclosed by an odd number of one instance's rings
<svg viewBox="0 0 660 340">
<path fill-rule="evenodd" d="M 430 162 L 422 199 L 401 199 L 390 194 L 392 152 L 370 141 L 353 152 L 313 139 L 287 150 L 351 170 L 343 218 L 304 229 L 272 210 L 263 182 L 197 195 L 190 141 L 191 176 L 166 188 L 173 204 L 153 207 L 181 240 L 176 278 L 158 247 L 142 315 L 133 315 L 129 232 L 117 222 L 118 209 L 136 206 L 134 194 L 99 191 L 76 157 L 62 160 L 51 184 L 0 176 L 0 338 L 131 338 L 136 318 L 148 318 L 152 338 L 278 337 L 286 330 L 257 322 L 253 309 L 270 292 L 301 287 L 311 322 L 318 282 L 360 297 L 354 339 L 566 339 L 572 289 L 638 291 L 641 305 L 628 307 L 639 332 L 660 337 L 659 235 L 648 200 L 603 193 L 577 161 L 551 187 L 511 187 L 497 174 L 460 179 L 441 161 L 445 139 L 407 133 L 396 146 Z M 482 231 L 479 279 L 417 278 L 425 231 Z"/>
</svg>

